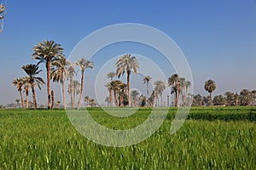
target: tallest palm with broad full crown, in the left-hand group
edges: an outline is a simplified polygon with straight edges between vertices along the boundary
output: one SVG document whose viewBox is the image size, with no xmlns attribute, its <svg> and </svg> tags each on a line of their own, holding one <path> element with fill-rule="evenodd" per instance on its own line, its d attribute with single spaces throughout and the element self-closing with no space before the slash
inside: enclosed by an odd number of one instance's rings
<svg viewBox="0 0 256 170">
<path fill-rule="evenodd" d="M 47 71 L 47 105 L 48 109 L 50 109 L 50 65 L 53 61 L 63 56 L 63 48 L 61 48 L 61 44 L 55 43 L 54 41 L 44 41 L 39 42 L 33 48 L 33 59 L 38 59 L 38 65 L 42 62 L 45 62 L 45 67 Z"/>
</svg>

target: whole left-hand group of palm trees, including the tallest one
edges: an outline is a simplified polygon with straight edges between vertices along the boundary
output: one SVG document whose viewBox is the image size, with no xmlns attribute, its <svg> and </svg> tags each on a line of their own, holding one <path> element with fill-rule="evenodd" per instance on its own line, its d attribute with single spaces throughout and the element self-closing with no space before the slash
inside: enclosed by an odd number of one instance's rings
<svg viewBox="0 0 256 170">
<path fill-rule="evenodd" d="M 16 78 L 13 81 L 13 85 L 17 88 L 20 93 L 20 101 L 22 107 L 24 106 L 24 100 L 22 92 L 26 93 L 26 108 L 28 107 L 28 92 L 29 88 L 32 88 L 32 97 L 34 109 L 37 109 L 36 102 L 36 94 L 34 88 L 38 86 L 41 89 L 41 86 L 44 85 L 44 80 L 41 77 L 36 77 L 39 72 L 38 65 L 44 63 L 46 72 L 47 72 L 47 106 L 48 109 L 52 109 L 55 105 L 54 92 L 50 89 L 50 81 L 60 82 L 62 87 L 62 97 L 63 97 L 63 105 L 66 109 L 66 96 L 65 96 L 65 82 L 69 79 L 69 94 L 71 94 L 71 105 L 72 108 L 75 107 L 75 94 L 79 95 L 78 109 L 81 105 L 83 88 L 84 88 L 84 72 L 86 68 L 93 69 L 94 63 L 90 60 L 86 60 L 84 58 L 79 59 L 77 62 L 72 63 L 68 61 L 63 54 L 63 48 L 61 48 L 61 44 L 55 43 L 54 41 L 44 41 L 39 42 L 33 48 L 32 59 L 38 59 L 37 65 L 24 65 L 22 69 L 26 71 L 27 77 Z M 79 70 L 81 71 L 81 80 L 79 85 L 79 93 L 77 90 L 78 83 L 73 80 L 73 77 L 76 73 L 75 66 L 79 66 Z"/>
</svg>

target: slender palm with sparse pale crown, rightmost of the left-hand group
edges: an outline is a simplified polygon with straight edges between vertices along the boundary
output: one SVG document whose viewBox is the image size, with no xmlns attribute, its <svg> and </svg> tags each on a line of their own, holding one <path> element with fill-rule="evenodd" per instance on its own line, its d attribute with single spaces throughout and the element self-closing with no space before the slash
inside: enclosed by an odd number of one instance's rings
<svg viewBox="0 0 256 170">
<path fill-rule="evenodd" d="M 82 100 L 82 94 L 83 94 L 83 88 L 84 88 L 84 71 L 86 68 L 94 69 L 94 63 L 90 60 L 85 60 L 84 58 L 79 59 L 76 63 L 76 65 L 79 66 L 81 69 L 81 87 L 80 87 L 80 97 L 79 97 L 79 104 L 78 109 L 80 108 L 81 100 Z"/>
</svg>

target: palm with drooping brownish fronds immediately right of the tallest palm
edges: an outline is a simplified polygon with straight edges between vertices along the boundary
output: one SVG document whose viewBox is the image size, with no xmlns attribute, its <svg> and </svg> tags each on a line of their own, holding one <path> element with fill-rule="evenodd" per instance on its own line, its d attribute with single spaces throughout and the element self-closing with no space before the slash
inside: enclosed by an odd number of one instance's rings
<svg viewBox="0 0 256 170">
<path fill-rule="evenodd" d="M 53 61 L 52 65 L 53 67 L 51 68 L 50 78 L 53 80 L 53 82 L 61 82 L 63 105 L 64 109 L 66 109 L 65 81 L 67 80 L 68 75 L 67 66 L 70 65 L 70 62 L 64 56 L 61 56 Z"/>
</svg>

